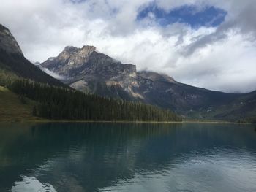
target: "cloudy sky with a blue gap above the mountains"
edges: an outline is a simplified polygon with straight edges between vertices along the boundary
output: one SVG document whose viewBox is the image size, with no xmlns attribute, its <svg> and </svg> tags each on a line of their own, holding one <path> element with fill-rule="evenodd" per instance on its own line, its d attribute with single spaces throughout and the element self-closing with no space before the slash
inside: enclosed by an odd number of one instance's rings
<svg viewBox="0 0 256 192">
<path fill-rule="evenodd" d="M 0 0 L 30 61 L 94 45 L 138 70 L 227 93 L 256 90 L 254 0 Z"/>
</svg>

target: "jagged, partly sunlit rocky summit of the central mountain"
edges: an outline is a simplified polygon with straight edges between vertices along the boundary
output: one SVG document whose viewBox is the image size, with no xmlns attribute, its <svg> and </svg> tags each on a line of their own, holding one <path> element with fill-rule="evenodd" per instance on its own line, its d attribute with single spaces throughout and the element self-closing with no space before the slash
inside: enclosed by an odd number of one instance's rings
<svg viewBox="0 0 256 192">
<path fill-rule="evenodd" d="M 121 64 L 90 45 L 81 48 L 67 46 L 56 58 L 48 58 L 41 66 L 68 79 L 95 76 L 109 80 L 120 75 L 136 75 L 136 66 Z"/>
</svg>

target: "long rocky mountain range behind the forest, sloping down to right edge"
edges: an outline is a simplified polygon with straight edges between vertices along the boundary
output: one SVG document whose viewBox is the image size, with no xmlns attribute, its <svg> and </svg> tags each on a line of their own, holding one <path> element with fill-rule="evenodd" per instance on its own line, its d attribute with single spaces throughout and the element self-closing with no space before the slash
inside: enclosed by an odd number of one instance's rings
<svg viewBox="0 0 256 192">
<path fill-rule="evenodd" d="M 238 120 L 256 115 L 255 93 L 209 91 L 176 82 L 166 74 L 137 72 L 135 65 L 121 64 L 93 46 L 65 47 L 41 66 L 79 91 L 154 104 L 186 118 Z"/>
</svg>

